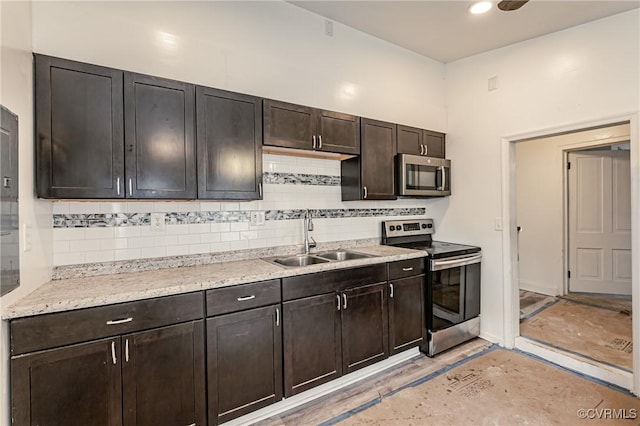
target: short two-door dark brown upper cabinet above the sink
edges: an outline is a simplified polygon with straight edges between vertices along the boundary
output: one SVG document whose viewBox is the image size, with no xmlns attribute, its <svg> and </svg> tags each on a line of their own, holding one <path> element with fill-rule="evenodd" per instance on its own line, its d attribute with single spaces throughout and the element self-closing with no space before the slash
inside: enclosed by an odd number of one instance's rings
<svg viewBox="0 0 640 426">
<path fill-rule="evenodd" d="M 265 100 L 263 116 L 265 145 L 360 153 L 360 118 L 355 115 Z"/>
</svg>

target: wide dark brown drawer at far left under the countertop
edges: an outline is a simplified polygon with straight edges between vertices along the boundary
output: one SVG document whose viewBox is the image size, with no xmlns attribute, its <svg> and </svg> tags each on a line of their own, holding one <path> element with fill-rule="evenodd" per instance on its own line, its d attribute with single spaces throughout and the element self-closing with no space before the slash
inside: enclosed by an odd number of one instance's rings
<svg viewBox="0 0 640 426">
<path fill-rule="evenodd" d="M 11 321 L 11 354 L 69 345 L 204 317 L 203 293 L 139 300 Z"/>
</svg>

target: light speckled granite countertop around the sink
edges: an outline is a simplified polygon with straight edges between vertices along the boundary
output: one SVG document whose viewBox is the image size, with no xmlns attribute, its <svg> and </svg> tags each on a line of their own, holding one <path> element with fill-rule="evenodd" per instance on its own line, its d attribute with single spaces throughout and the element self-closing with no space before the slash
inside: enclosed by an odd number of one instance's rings
<svg viewBox="0 0 640 426">
<path fill-rule="evenodd" d="M 381 245 L 357 247 L 354 251 L 377 257 L 298 268 L 285 268 L 264 259 L 247 259 L 201 266 L 52 280 L 13 305 L 3 307 L 2 319 L 90 308 L 426 256 L 426 252 L 421 250 Z"/>
</svg>

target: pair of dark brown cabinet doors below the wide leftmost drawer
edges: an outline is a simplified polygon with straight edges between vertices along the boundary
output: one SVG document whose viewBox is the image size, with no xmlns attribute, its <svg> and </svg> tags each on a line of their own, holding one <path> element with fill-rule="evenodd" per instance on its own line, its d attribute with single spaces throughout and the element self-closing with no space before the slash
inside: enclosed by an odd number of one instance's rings
<svg viewBox="0 0 640 426">
<path fill-rule="evenodd" d="M 204 321 L 11 360 L 14 425 L 204 425 Z"/>
</svg>

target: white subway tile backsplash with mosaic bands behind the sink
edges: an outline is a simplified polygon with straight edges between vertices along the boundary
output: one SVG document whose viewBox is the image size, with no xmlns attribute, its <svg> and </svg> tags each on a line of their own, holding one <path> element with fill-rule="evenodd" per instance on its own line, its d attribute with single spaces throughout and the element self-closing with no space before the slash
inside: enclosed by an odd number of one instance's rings
<svg viewBox="0 0 640 426">
<path fill-rule="evenodd" d="M 337 160 L 264 154 L 263 170 L 260 201 L 56 201 L 54 266 L 302 244 L 306 209 L 318 242 L 379 238 L 382 220 L 427 213 L 417 199 L 342 202 Z M 151 213 L 165 214 L 164 230 L 152 231 Z"/>
</svg>

